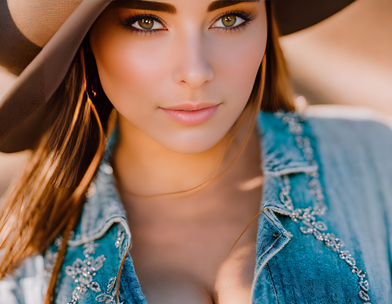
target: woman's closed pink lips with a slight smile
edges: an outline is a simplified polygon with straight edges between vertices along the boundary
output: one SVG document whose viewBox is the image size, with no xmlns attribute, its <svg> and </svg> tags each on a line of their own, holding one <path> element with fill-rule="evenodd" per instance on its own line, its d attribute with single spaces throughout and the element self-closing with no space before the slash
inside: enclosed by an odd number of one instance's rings
<svg viewBox="0 0 392 304">
<path fill-rule="evenodd" d="M 161 109 L 176 122 L 182 123 L 184 125 L 197 125 L 209 120 L 212 115 L 214 115 L 219 105 L 220 104 L 217 104 L 216 106 L 206 107 L 198 110 Z"/>
</svg>

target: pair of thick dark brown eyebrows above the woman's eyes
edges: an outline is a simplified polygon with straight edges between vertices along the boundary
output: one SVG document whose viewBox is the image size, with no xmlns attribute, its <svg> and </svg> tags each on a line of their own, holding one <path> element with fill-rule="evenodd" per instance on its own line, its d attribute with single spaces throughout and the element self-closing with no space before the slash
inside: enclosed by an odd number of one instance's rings
<svg viewBox="0 0 392 304">
<path fill-rule="evenodd" d="M 223 7 L 236 5 L 241 2 L 256 3 L 260 0 L 216 0 L 211 2 L 207 8 L 207 12 L 212 12 Z M 118 0 L 113 1 L 116 6 L 129 8 L 129 9 L 144 9 L 148 11 L 160 11 L 169 14 L 176 14 L 176 7 L 172 4 L 156 2 L 156 1 L 146 1 L 146 0 Z"/>
</svg>

